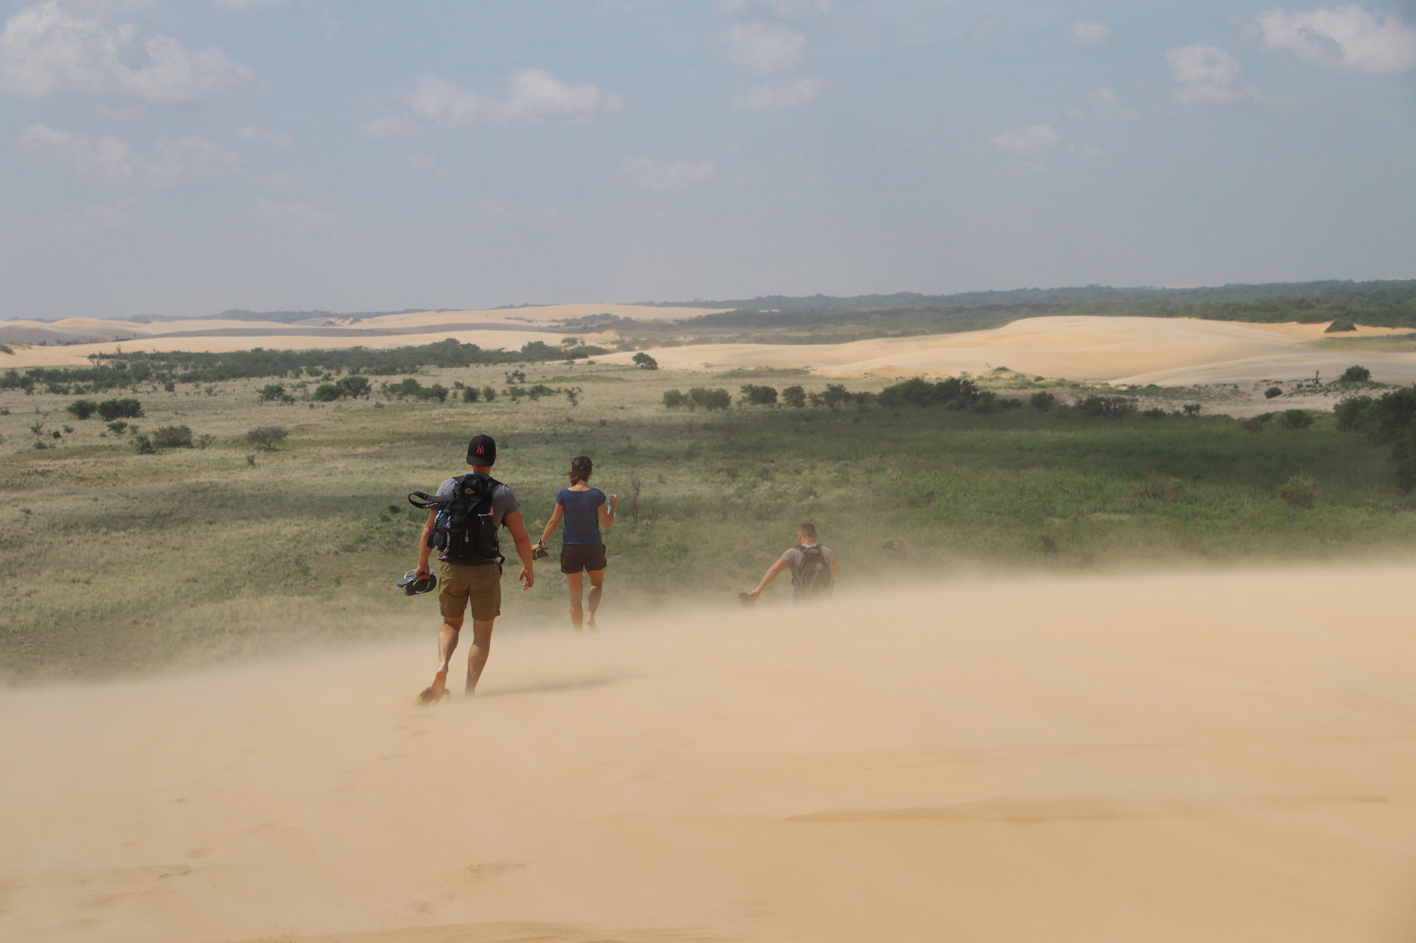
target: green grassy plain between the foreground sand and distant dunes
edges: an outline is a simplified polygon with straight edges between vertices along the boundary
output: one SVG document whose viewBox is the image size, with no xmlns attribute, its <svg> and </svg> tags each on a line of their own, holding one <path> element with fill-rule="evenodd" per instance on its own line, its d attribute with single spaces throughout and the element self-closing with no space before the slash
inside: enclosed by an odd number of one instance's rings
<svg viewBox="0 0 1416 943">
<path fill-rule="evenodd" d="M 624 494 L 640 477 L 639 524 L 626 501 L 607 539 L 610 620 L 675 599 L 735 605 L 801 520 L 841 556 L 844 586 L 980 568 L 1069 572 L 1416 545 L 1416 501 L 1396 494 L 1388 450 L 1338 432 L 1331 415 L 1304 430 L 1249 432 L 1225 416 L 1106 421 L 1066 409 L 688 413 L 657 404 L 701 375 L 551 370 L 565 368 L 528 368 L 527 382 L 590 381 L 578 408 L 506 398 L 272 405 L 256 402 L 253 381 L 210 395 L 142 391 L 143 429 L 180 423 L 215 436 L 208 449 L 156 456 L 135 455 L 130 436 L 99 438 L 96 421 L 72 422 L 59 447 L 34 450 L 35 409 L 58 426 L 67 398 L 6 394 L 0 673 L 132 674 L 316 640 L 429 633 L 432 602 L 392 586 L 413 564 L 423 517 L 404 496 L 459 471 L 473 432 L 497 436 L 496 473 L 521 497 L 532 537 L 572 456 L 595 457 L 595 484 L 606 491 Z M 501 372 L 449 370 L 432 381 L 500 387 Z M 810 377 L 792 382 L 824 388 Z M 268 423 L 292 429 L 278 452 L 239 442 Z M 1137 497 L 1151 473 L 1177 479 L 1178 496 Z M 1320 484 L 1313 508 L 1277 497 L 1298 473 Z M 507 575 L 504 627 L 564 620 L 555 569 L 542 565 L 531 593 Z"/>
</svg>

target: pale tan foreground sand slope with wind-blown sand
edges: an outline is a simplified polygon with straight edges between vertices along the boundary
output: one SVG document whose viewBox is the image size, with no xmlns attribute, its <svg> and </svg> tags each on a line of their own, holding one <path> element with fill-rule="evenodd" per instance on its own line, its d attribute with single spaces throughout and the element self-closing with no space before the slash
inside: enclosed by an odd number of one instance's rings
<svg viewBox="0 0 1416 943">
<path fill-rule="evenodd" d="M 1410 940 L 1413 579 L 498 630 L 435 709 L 430 629 L 0 692 L 0 939 Z"/>
</svg>

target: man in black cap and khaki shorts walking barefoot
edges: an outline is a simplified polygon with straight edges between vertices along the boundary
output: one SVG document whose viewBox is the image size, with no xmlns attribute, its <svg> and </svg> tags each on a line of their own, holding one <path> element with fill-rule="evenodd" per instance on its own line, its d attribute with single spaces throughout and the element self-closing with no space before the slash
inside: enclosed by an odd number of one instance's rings
<svg viewBox="0 0 1416 943">
<path fill-rule="evenodd" d="M 497 443 L 491 436 L 474 436 L 467 445 L 467 471 L 491 481 L 491 532 L 506 527 L 511 531 L 511 539 L 517 545 L 517 556 L 521 558 L 521 572 L 517 575 L 523 589 L 531 589 L 535 583 L 535 573 L 531 568 L 531 538 L 527 535 L 525 524 L 521 521 L 521 504 L 517 496 L 506 484 L 491 477 L 491 466 L 497 460 Z M 462 479 L 447 479 L 438 488 L 436 497 L 446 498 L 456 494 L 457 483 Z M 428 558 L 432 555 L 433 528 L 438 522 L 438 508 L 428 511 L 428 522 L 423 525 L 422 542 L 418 547 L 418 578 L 430 572 Z M 467 653 L 467 694 L 477 690 L 477 678 L 487 664 L 487 653 L 491 648 L 491 626 L 501 615 L 501 562 L 496 537 L 491 538 L 490 551 L 480 549 L 472 559 L 459 555 L 449 547 L 439 555 L 438 569 L 438 607 L 442 610 L 443 627 L 438 633 L 438 671 L 433 673 L 433 682 L 418 695 L 419 704 L 436 704 L 447 695 L 447 667 L 452 664 L 452 653 L 457 648 L 457 636 L 462 631 L 463 610 L 472 609 L 472 651 Z"/>
</svg>

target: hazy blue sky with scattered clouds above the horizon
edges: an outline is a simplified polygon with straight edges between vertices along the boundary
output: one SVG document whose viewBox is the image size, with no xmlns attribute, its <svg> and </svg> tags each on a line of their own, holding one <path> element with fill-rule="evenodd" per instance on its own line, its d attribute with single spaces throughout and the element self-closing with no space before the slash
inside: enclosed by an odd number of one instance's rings
<svg viewBox="0 0 1416 943">
<path fill-rule="evenodd" d="M 1416 276 L 1410 3 L 0 14 L 0 317 Z"/>
</svg>

